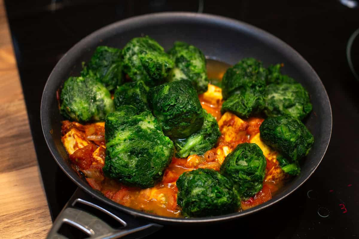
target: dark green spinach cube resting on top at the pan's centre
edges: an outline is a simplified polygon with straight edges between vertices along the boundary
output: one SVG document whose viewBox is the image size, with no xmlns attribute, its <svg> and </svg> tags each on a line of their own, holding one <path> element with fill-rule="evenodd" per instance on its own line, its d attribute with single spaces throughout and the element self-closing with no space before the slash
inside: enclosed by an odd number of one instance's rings
<svg viewBox="0 0 359 239">
<path fill-rule="evenodd" d="M 148 103 L 169 137 L 185 139 L 204 122 L 201 103 L 189 80 L 174 81 L 151 88 Z"/>
</svg>

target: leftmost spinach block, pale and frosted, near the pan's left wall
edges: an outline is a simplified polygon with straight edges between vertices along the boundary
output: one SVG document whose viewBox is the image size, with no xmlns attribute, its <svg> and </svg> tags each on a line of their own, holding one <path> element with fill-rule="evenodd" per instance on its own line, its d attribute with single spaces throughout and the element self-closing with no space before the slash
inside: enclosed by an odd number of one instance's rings
<svg viewBox="0 0 359 239">
<path fill-rule="evenodd" d="M 60 113 L 69 120 L 104 120 L 115 110 L 110 92 L 93 77 L 70 77 L 61 90 Z"/>
</svg>

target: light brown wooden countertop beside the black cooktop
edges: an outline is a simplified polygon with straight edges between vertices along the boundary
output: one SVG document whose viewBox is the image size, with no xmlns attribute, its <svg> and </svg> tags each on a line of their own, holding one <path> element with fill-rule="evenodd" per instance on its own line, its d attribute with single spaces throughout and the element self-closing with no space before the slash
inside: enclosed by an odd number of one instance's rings
<svg viewBox="0 0 359 239">
<path fill-rule="evenodd" d="M 52 222 L 0 0 L 0 237 L 45 238 Z"/>
</svg>

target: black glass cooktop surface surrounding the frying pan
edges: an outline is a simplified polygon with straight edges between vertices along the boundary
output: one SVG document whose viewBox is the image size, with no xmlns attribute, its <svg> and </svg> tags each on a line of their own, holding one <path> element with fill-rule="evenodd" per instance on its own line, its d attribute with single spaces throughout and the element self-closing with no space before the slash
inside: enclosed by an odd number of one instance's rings
<svg viewBox="0 0 359 239">
<path fill-rule="evenodd" d="M 202 10 L 262 28 L 307 59 L 328 92 L 333 130 L 327 153 L 316 172 L 285 200 L 241 220 L 208 228 L 180 229 L 176 234 L 201 231 L 203 237 L 211 238 L 226 235 L 224 231 L 238 233 L 239 230 L 238 236 L 246 238 L 359 237 L 359 81 L 349 68 L 346 54 L 348 40 L 359 28 L 359 8 L 350 8 L 343 2 L 355 3 L 345 0 L 5 1 L 52 217 L 57 216 L 76 189 L 52 159 L 41 130 L 42 90 L 57 61 L 81 38 L 109 23 L 160 11 Z M 355 38 L 350 53 L 358 72 L 359 37 Z M 168 236 L 170 229 L 166 227 L 154 236 Z"/>
</svg>

